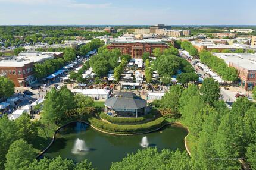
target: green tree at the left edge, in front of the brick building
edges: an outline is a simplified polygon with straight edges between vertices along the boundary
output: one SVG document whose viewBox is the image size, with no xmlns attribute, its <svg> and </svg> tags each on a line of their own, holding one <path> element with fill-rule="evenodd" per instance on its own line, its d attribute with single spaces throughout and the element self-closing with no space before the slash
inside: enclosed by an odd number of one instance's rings
<svg viewBox="0 0 256 170">
<path fill-rule="evenodd" d="M 9 78 L 1 76 L 0 77 L 0 98 L 1 97 L 10 97 L 13 95 L 15 86 L 13 81 Z"/>
</svg>

